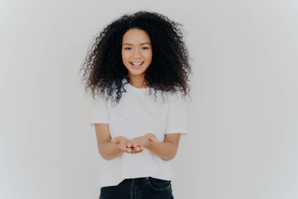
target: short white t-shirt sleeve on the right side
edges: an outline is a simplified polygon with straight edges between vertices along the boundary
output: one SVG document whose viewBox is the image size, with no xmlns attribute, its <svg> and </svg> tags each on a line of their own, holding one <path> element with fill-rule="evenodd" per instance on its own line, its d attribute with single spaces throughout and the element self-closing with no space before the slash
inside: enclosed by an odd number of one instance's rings
<svg viewBox="0 0 298 199">
<path fill-rule="evenodd" d="M 171 133 L 181 133 L 182 136 L 188 135 L 186 98 L 182 96 L 181 92 L 174 93 L 169 103 L 165 134 Z"/>
</svg>

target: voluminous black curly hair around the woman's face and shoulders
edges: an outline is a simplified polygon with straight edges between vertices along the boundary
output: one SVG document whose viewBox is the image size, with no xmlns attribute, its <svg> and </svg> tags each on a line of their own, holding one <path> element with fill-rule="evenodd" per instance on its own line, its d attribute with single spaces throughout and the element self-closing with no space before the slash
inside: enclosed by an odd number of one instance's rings
<svg viewBox="0 0 298 199">
<path fill-rule="evenodd" d="M 192 72 L 179 26 L 182 24 L 169 20 L 162 14 L 147 11 L 125 14 L 112 21 L 96 37 L 80 69 L 84 70 L 82 82 L 86 91 L 90 88 L 93 98 L 96 93 L 100 95 L 107 93 L 108 98 L 113 99 L 115 89 L 117 95 L 115 100 L 117 102 L 120 100 L 121 93 L 126 92 L 122 80 L 124 78 L 128 82 L 130 80 L 128 69 L 122 61 L 122 38 L 131 28 L 138 28 L 144 30 L 152 42 L 152 61 L 145 71 L 145 82 L 149 89 L 154 89 L 154 95 L 156 90 L 162 93 L 168 91 L 176 93 L 178 89 L 184 95 L 186 92 L 189 95 L 190 86 L 187 81 Z"/>
</svg>

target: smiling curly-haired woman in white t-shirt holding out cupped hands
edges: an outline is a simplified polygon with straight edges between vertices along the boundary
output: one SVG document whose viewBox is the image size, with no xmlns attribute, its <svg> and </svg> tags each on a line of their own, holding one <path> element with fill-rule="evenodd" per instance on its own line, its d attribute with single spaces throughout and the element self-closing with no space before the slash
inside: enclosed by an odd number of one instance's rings
<svg viewBox="0 0 298 199">
<path fill-rule="evenodd" d="M 173 199 L 169 160 L 188 133 L 191 73 L 179 25 L 156 12 L 124 15 L 103 29 L 87 55 L 86 89 L 99 94 L 90 124 L 107 160 L 99 199 Z"/>
</svg>

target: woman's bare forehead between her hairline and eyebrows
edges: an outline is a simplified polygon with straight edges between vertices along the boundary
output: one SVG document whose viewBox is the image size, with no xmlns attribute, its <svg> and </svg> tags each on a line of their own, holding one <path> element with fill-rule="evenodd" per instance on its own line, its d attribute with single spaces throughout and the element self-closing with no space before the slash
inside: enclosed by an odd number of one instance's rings
<svg viewBox="0 0 298 199">
<path fill-rule="evenodd" d="M 149 35 L 144 30 L 136 28 L 128 30 L 122 39 L 122 43 L 141 44 L 144 42 L 150 43 Z"/>
</svg>

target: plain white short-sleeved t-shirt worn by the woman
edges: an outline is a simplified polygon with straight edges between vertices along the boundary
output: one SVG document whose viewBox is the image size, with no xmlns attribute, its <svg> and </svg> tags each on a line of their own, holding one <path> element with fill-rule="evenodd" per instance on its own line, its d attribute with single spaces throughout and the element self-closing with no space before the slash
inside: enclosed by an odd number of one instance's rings
<svg viewBox="0 0 298 199">
<path fill-rule="evenodd" d="M 99 96 L 93 102 L 91 126 L 94 127 L 94 123 L 109 123 L 112 138 L 124 136 L 132 139 L 153 133 L 160 142 L 163 142 L 165 134 L 188 134 L 186 99 L 182 97 L 181 91 L 177 91 L 177 94 L 164 92 L 161 95 L 162 92 L 157 90 L 155 98 L 153 88 L 150 88 L 149 95 L 149 88 L 134 87 L 126 79 L 122 83 L 125 83 L 123 87 L 126 92 L 121 93 L 121 99 L 115 106 L 110 99 L 106 101 Z M 98 188 L 115 186 L 129 178 L 171 180 L 174 177 L 169 161 L 161 159 L 146 148 L 141 153 L 123 153 L 105 161 Z"/>
</svg>

